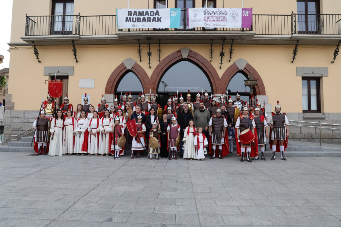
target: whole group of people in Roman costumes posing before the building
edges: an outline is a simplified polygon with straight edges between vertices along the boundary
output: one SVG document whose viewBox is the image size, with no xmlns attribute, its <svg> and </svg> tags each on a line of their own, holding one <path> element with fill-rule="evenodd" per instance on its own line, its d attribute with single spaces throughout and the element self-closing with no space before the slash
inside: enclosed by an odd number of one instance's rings
<svg viewBox="0 0 341 227">
<path fill-rule="evenodd" d="M 124 152 L 130 152 L 132 159 L 145 155 L 149 159 L 159 159 L 160 154 L 170 160 L 178 159 L 177 151 L 180 150 L 180 158 L 184 160 L 204 160 L 207 153 L 211 159 L 223 159 L 233 152 L 235 136 L 240 161 L 246 158 L 252 162 L 266 160 L 264 150 L 269 137 L 271 160 L 276 159 L 276 152 L 280 152 L 281 159 L 286 160 L 284 150 L 289 122 L 286 114 L 281 113 L 279 101 L 275 112 L 268 116 L 253 95 L 250 104 L 240 100 L 238 92 L 235 100 L 229 96 L 226 102 L 227 95 L 222 94 L 218 102 L 215 96 L 209 99 L 207 92 L 201 95 L 198 92 L 193 102 L 191 98 L 190 91 L 186 100 L 182 94 L 169 97 L 162 109 L 156 102 L 156 95 L 148 102 L 144 93 L 139 94 L 136 103 L 131 93 L 125 93 L 121 102 L 116 96 L 110 108 L 102 96 L 95 108 L 85 94 L 84 104 L 78 104 L 73 110 L 67 96 L 59 107 L 47 95 L 40 117 L 33 123 L 34 149 L 37 155 L 109 156 L 111 153 L 114 159 L 120 159 Z M 207 124 L 200 126 L 202 118 L 207 119 Z M 131 134 L 128 122 L 136 125 L 136 134 Z"/>
</svg>

